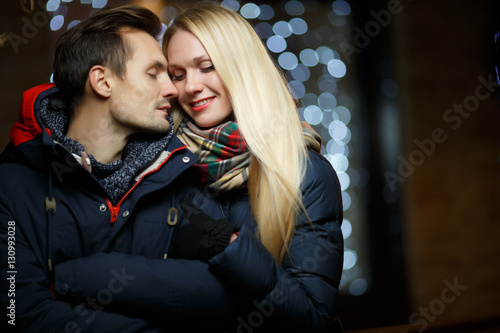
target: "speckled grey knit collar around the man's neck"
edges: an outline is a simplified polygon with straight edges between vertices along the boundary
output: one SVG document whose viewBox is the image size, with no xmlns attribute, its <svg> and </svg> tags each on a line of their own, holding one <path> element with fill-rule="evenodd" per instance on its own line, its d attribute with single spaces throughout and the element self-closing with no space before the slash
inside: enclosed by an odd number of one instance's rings
<svg viewBox="0 0 500 333">
<path fill-rule="evenodd" d="M 45 98 L 40 103 L 40 115 L 52 138 L 70 153 L 80 156 L 85 148 L 65 135 L 69 119 L 64 108 Z M 172 117 L 168 116 L 168 120 L 170 131 L 166 135 L 137 135 L 126 144 L 121 160 L 102 164 L 89 155 L 92 174 L 100 180 L 113 204 L 117 204 L 134 185 L 134 176 L 154 162 L 172 139 L 174 123 Z"/>
</svg>

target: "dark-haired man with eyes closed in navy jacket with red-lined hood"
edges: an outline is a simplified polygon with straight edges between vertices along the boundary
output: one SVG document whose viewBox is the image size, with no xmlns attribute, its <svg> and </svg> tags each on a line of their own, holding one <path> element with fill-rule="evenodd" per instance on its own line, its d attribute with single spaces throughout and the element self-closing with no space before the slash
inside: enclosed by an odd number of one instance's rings
<svg viewBox="0 0 500 333">
<path fill-rule="evenodd" d="M 107 307 L 140 280 L 124 266 L 100 271 L 109 276 L 106 288 L 79 302 L 54 283 L 58 264 L 96 253 L 167 256 L 181 220 L 176 207 L 196 193 L 184 174 L 197 158 L 173 135 L 168 116 L 177 91 L 155 39 L 160 31 L 145 8 L 105 9 L 61 36 L 56 86 L 23 95 L 0 158 L 1 320 L 8 331 L 167 331 L 133 309 Z M 175 281 L 177 294 L 168 297 L 180 312 L 196 315 L 207 303 L 216 316 L 232 311 L 206 263 L 164 262 L 161 278 Z M 156 292 L 140 288 L 146 300 Z"/>
</svg>

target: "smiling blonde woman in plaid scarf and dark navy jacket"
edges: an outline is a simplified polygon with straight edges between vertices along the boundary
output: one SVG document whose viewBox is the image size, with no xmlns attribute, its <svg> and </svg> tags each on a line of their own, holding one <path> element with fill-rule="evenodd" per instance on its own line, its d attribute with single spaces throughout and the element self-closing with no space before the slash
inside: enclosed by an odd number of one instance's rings
<svg viewBox="0 0 500 333">
<path fill-rule="evenodd" d="M 247 309 L 251 314 L 271 304 L 265 331 L 332 332 L 343 257 L 339 184 L 329 163 L 313 152 L 317 137 L 301 126 L 283 75 L 248 22 L 220 6 L 176 17 L 164 51 L 183 110 L 173 114 L 177 134 L 200 157 L 200 180 L 239 211 L 246 196 L 231 193 L 248 189 L 246 216 L 254 221 L 247 218 L 245 228 L 256 230 L 275 261 L 252 261 L 251 250 L 231 244 L 209 260 L 212 270 L 235 286 L 242 303 L 245 294 L 268 287 L 264 302 Z"/>
</svg>

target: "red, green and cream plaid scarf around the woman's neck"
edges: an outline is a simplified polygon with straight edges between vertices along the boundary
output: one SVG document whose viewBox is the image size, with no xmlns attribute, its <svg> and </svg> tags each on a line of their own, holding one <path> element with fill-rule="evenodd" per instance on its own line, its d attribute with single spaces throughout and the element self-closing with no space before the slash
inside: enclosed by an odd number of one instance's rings
<svg viewBox="0 0 500 333">
<path fill-rule="evenodd" d="M 302 129 L 307 147 L 320 152 L 321 137 L 305 121 Z M 186 117 L 177 135 L 200 158 L 193 172 L 202 183 L 211 183 L 210 190 L 225 192 L 246 184 L 250 152 L 237 123 L 229 121 L 205 130 Z"/>
</svg>

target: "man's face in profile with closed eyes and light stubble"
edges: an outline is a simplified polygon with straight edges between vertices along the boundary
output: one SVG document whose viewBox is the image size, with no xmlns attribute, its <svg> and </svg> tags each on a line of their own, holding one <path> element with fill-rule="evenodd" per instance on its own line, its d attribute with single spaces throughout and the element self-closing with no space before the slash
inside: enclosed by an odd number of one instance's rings
<svg viewBox="0 0 500 333">
<path fill-rule="evenodd" d="M 127 30 L 122 34 L 132 50 L 123 79 L 112 82 L 110 113 L 117 131 L 125 135 L 140 132 L 164 133 L 169 99 L 177 96 L 167 72 L 167 60 L 158 42 L 149 34 Z"/>
</svg>

